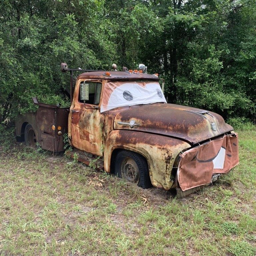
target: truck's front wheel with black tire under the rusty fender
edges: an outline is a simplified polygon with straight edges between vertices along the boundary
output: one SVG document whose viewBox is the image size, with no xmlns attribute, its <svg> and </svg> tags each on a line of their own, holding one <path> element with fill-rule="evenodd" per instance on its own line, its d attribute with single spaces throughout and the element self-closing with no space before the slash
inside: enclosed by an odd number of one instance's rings
<svg viewBox="0 0 256 256">
<path fill-rule="evenodd" d="M 144 189 L 152 187 L 148 163 L 143 156 L 135 152 L 120 150 L 115 157 L 114 173 Z"/>
</svg>

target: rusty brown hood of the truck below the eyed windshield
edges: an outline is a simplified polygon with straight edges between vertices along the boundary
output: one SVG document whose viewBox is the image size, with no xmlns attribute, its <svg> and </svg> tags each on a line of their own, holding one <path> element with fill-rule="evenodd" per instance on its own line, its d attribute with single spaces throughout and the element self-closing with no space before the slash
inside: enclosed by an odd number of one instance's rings
<svg viewBox="0 0 256 256">
<path fill-rule="evenodd" d="M 114 118 L 114 129 L 161 134 L 185 140 L 190 144 L 233 130 L 216 113 L 164 103 L 136 105 L 119 111 Z"/>
</svg>

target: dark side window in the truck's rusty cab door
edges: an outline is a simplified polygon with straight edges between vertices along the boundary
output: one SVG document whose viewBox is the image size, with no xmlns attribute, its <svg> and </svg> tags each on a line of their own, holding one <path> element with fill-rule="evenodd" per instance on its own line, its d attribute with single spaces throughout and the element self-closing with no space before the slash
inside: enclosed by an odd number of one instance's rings
<svg viewBox="0 0 256 256">
<path fill-rule="evenodd" d="M 83 82 L 82 82 L 83 83 Z M 81 84 L 82 84 L 81 83 Z M 89 100 L 81 100 L 81 84 L 80 84 L 80 90 L 79 90 L 79 102 L 87 103 L 87 104 L 94 104 L 99 105 L 100 103 L 100 93 L 102 88 L 102 83 L 99 82 L 90 82 L 85 81 L 86 84 L 89 84 Z"/>
</svg>

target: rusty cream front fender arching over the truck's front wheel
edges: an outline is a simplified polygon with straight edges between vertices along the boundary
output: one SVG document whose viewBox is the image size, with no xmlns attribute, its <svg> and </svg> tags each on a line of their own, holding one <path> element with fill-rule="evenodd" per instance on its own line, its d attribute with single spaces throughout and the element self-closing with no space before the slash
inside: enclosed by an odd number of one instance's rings
<svg viewBox="0 0 256 256">
<path fill-rule="evenodd" d="M 149 175 L 153 186 L 170 189 L 171 171 L 176 156 L 190 145 L 179 139 L 162 135 L 113 130 L 108 134 L 104 149 L 104 169 L 110 173 L 112 152 L 117 149 L 127 149 L 143 155 L 148 162 Z"/>
</svg>

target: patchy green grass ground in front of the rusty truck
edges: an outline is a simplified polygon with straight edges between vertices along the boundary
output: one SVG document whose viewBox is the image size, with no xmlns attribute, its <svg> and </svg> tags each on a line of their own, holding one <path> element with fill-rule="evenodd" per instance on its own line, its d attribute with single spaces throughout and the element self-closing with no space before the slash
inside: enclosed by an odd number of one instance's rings
<svg viewBox="0 0 256 256">
<path fill-rule="evenodd" d="M 0 255 L 256 254 L 256 129 L 240 164 L 183 199 L 65 157 L 0 153 Z"/>
</svg>

